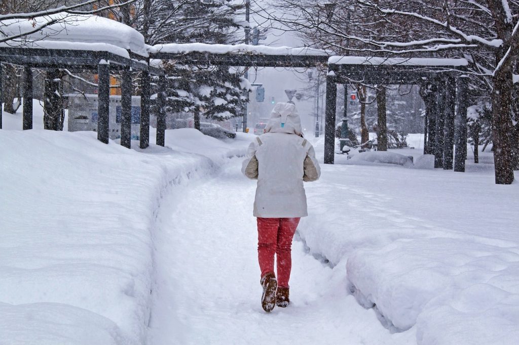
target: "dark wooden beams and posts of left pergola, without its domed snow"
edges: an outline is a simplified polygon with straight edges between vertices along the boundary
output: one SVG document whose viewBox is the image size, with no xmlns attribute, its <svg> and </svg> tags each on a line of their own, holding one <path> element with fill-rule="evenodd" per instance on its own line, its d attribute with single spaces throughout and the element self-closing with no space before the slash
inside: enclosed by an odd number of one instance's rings
<svg viewBox="0 0 519 345">
<path fill-rule="evenodd" d="M 127 55 L 127 56 L 125 56 Z M 163 75 L 163 71 L 151 67 L 146 62 L 147 56 L 132 52 L 118 54 L 111 50 L 72 50 L 29 47 L 0 47 L 0 62 L 24 67 L 23 85 L 23 130 L 32 129 L 33 125 L 33 68 L 67 68 L 71 71 L 89 70 L 98 74 L 98 139 L 108 143 L 108 104 L 110 102 L 110 73 L 119 71 L 121 84 L 121 145 L 130 148 L 131 139 L 131 73 L 141 71 L 141 148 L 149 143 L 149 75 Z M 2 67 L 0 65 L 0 76 Z M 0 81 L 1 81 L 0 77 Z M 0 86 L 0 104 L 3 103 L 3 85 Z M 1 118 L 0 118 L 1 120 Z M 1 121 L 0 121 L 1 123 Z M 1 124 L 0 124 L 1 128 Z"/>
</svg>

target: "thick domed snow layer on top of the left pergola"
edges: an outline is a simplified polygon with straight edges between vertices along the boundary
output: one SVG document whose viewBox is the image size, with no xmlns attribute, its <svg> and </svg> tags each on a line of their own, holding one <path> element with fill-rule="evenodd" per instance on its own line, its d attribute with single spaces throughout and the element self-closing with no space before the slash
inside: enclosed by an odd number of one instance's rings
<svg viewBox="0 0 519 345">
<path fill-rule="evenodd" d="M 148 56 L 144 36 L 134 28 L 115 20 L 93 15 L 59 15 L 36 17 L 34 20 L 11 19 L 0 21 L 4 38 L 34 31 L 49 21 L 56 23 L 41 30 L 9 40 L 4 47 L 71 49 L 109 51 L 129 57 L 128 50 Z"/>
</svg>

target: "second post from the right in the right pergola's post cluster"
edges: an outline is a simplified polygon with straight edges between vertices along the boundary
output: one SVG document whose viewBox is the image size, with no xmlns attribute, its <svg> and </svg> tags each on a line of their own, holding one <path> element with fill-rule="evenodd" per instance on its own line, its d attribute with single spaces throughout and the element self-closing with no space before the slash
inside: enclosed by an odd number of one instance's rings
<svg viewBox="0 0 519 345">
<path fill-rule="evenodd" d="M 445 88 L 445 109 L 444 109 L 444 132 L 443 132 L 443 169 L 453 168 L 454 155 L 454 111 L 456 107 L 456 79 L 449 74 Z"/>
</svg>

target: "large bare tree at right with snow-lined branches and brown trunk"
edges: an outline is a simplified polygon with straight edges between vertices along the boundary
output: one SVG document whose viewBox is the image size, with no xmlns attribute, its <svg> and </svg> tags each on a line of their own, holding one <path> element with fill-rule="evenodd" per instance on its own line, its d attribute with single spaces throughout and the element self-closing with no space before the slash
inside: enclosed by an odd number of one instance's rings
<svg viewBox="0 0 519 345">
<path fill-rule="evenodd" d="M 301 32 L 310 46 L 343 55 L 465 57 L 472 87 L 492 99 L 496 183 L 513 182 L 518 114 L 512 68 L 519 54 L 517 0 L 310 0 L 264 16 Z"/>
</svg>

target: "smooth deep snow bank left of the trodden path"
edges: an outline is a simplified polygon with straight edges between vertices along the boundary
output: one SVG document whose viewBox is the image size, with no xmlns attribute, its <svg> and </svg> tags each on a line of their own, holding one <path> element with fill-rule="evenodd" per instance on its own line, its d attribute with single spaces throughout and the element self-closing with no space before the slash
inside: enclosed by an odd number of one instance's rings
<svg viewBox="0 0 519 345">
<path fill-rule="evenodd" d="M 138 152 L 94 132 L 0 131 L 2 343 L 145 342 L 161 194 L 219 164 L 193 149 L 231 155 L 180 137 L 192 147 Z"/>
</svg>

